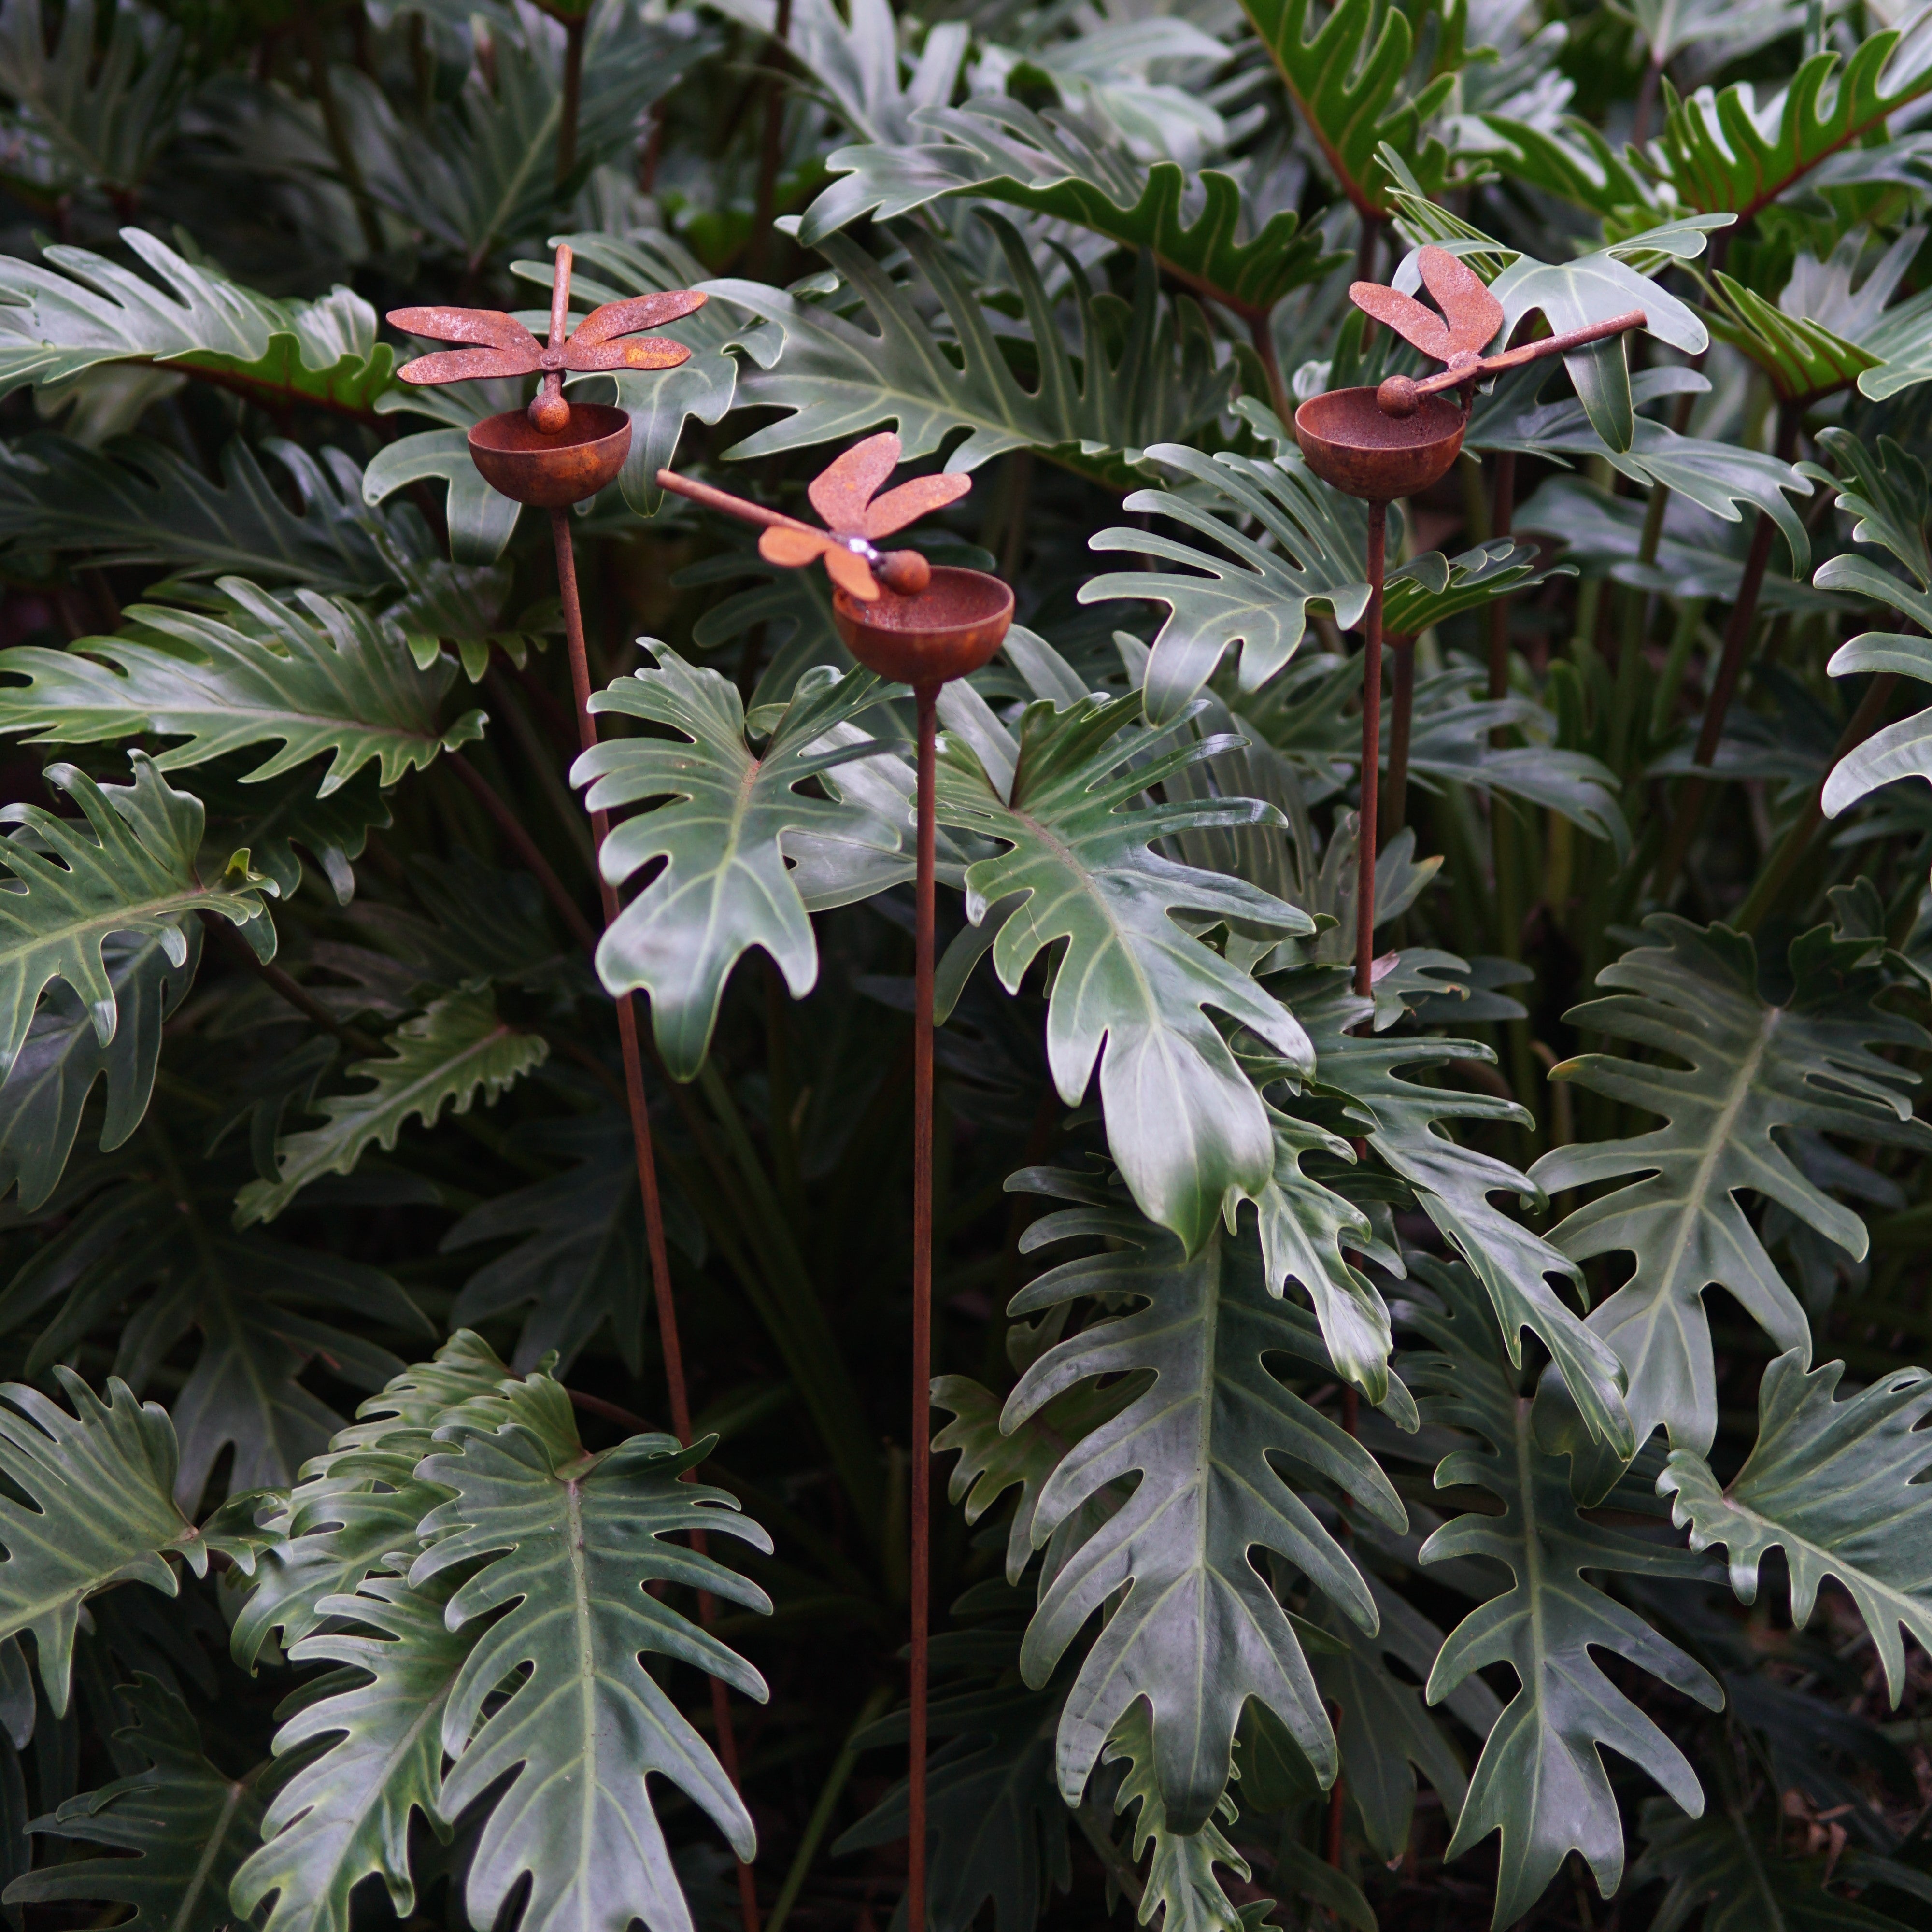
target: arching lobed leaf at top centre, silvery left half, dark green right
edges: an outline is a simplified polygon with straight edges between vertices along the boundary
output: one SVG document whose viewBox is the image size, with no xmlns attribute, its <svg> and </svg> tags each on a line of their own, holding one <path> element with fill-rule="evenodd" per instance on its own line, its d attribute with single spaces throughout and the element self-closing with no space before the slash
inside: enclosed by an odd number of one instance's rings
<svg viewBox="0 0 1932 1932">
<path fill-rule="evenodd" d="M 1293 209 L 1265 224 L 1244 222 L 1231 174 L 1206 170 L 1190 195 L 1179 162 L 1150 168 L 1072 114 L 980 95 L 962 108 L 920 108 L 912 126 L 918 145 L 842 147 L 827 156 L 844 180 L 806 211 L 798 226 L 806 247 L 866 214 L 898 220 L 945 195 L 985 195 L 1148 249 L 1177 282 L 1250 321 L 1265 321 L 1291 290 L 1347 261 L 1323 253 L 1321 234 L 1302 228 Z M 1252 240 L 1238 240 L 1244 226 L 1258 230 Z"/>
</svg>

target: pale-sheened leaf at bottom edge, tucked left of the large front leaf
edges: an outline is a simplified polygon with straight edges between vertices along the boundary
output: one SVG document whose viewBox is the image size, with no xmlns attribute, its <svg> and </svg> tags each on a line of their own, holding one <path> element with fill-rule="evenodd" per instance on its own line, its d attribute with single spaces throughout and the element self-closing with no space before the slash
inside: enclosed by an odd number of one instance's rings
<svg viewBox="0 0 1932 1932">
<path fill-rule="evenodd" d="M 278 1758 L 332 1739 L 276 1791 L 263 1843 L 230 1880 L 234 1911 L 253 1920 L 274 1895 L 265 1932 L 350 1932 L 350 1897 L 381 1874 L 390 1905 L 415 1909 L 410 1822 L 440 1837 L 442 1714 L 477 1633 L 450 1631 L 446 1577 L 412 1588 L 367 1577 L 354 1596 L 323 1596 L 332 1627 L 290 1650 L 292 1663 L 336 1663 L 276 1710 Z"/>
</svg>

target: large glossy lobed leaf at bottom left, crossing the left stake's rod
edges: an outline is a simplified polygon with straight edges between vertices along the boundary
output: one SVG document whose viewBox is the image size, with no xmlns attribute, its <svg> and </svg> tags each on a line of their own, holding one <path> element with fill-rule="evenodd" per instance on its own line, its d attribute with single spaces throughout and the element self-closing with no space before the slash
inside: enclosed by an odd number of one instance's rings
<svg viewBox="0 0 1932 1932">
<path fill-rule="evenodd" d="M 456 1760 L 442 1814 L 498 1793 L 466 1880 L 469 1917 L 491 1922 L 527 1876 L 527 1932 L 630 1918 L 682 1932 L 690 1920 L 645 1779 L 670 1779 L 740 1859 L 757 1837 L 709 1745 L 641 1660 L 690 1663 L 759 1700 L 765 1681 L 645 1584 L 769 1613 L 757 1584 L 667 1538 L 703 1530 L 765 1551 L 771 1538 L 726 1492 L 678 1480 L 715 1437 L 680 1449 L 670 1435 L 634 1435 L 585 1455 L 558 1383 L 531 1378 L 516 1406 L 493 1432 L 444 1424 L 450 1447 L 419 1464 L 452 1495 L 423 1519 L 410 1582 L 460 1571 L 448 1629 L 489 1619 L 442 1716 L 442 1748 Z"/>
</svg>

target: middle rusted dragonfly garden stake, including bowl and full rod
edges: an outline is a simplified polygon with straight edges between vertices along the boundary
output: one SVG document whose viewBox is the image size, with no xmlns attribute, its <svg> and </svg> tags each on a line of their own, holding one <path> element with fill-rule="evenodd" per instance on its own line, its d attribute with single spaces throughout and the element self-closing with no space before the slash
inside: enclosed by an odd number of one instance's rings
<svg viewBox="0 0 1932 1932">
<path fill-rule="evenodd" d="M 939 690 L 978 670 L 1012 624 L 1012 591 L 981 570 L 933 568 L 918 551 L 887 551 L 875 539 L 904 529 L 927 510 L 964 497 L 966 477 L 916 477 L 877 495 L 898 468 L 898 437 L 867 437 L 810 487 L 827 527 L 765 510 L 659 469 L 657 481 L 694 502 L 763 524 L 757 539 L 775 564 L 825 560 L 833 620 L 852 655 L 895 684 L 910 684 L 918 707 L 918 860 L 914 867 L 912 995 L 912 1561 L 910 1561 L 910 1764 L 906 1924 L 925 1932 L 925 1677 L 931 1586 L 931 1383 L 933 1383 L 933 846 L 937 842 L 935 753 Z"/>
</svg>

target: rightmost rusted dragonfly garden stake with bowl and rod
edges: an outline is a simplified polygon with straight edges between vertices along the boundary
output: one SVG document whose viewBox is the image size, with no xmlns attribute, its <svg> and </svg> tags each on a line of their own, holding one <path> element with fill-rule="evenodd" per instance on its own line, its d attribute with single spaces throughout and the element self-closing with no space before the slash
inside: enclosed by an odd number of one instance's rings
<svg viewBox="0 0 1932 1932">
<path fill-rule="evenodd" d="M 1349 299 L 1393 328 L 1405 342 L 1447 363 L 1416 381 L 1391 375 L 1379 388 L 1331 388 L 1294 412 L 1294 435 L 1323 483 L 1368 504 L 1368 611 L 1362 622 L 1362 817 L 1356 850 L 1354 989 L 1364 999 L 1374 989 L 1376 964 L 1376 792 L 1381 767 L 1381 587 L 1389 504 L 1412 497 L 1449 473 L 1463 454 L 1463 431 L 1476 383 L 1503 369 L 1517 369 L 1544 355 L 1588 348 L 1627 328 L 1644 327 L 1644 311 L 1631 309 L 1586 328 L 1544 336 L 1499 355 L 1484 355 L 1503 327 L 1503 307 L 1482 278 L 1447 249 L 1426 247 L 1416 255 L 1422 284 L 1441 305 L 1435 309 L 1379 282 L 1354 282 Z M 1459 388 L 1461 402 L 1443 392 Z M 1403 721 L 1406 740 L 1406 719 Z"/>
</svg>

